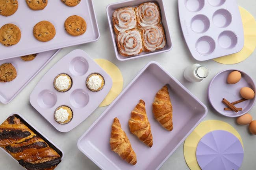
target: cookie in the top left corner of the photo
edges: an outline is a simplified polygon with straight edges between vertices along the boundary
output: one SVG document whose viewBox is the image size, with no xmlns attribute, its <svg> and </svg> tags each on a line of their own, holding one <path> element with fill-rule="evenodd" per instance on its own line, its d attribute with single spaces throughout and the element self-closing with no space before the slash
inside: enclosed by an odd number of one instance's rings
<svg viewBox="0 0 256 170">
<path fill-rule="evenodd" d="M 0 0 L 0 15 L 13 15 L 18 9 L 18 0 Z"/>
</svg>

